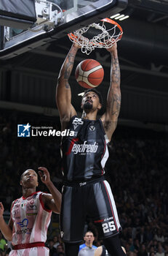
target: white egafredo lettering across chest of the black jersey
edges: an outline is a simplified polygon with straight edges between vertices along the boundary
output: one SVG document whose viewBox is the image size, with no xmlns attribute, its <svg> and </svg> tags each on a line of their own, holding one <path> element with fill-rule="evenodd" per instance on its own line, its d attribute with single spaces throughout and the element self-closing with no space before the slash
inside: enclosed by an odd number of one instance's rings
<svg viewBox="0 0 168 256">
<path fill-rule="evenodd" d="M 78 153 L 96 153 L 98 145 L 95 142 L 94 144 L 87 144 L 87 140 L 84 141 L 84 144 L 74 144 L 72 152 L 74 154 Z"/>
</svg>

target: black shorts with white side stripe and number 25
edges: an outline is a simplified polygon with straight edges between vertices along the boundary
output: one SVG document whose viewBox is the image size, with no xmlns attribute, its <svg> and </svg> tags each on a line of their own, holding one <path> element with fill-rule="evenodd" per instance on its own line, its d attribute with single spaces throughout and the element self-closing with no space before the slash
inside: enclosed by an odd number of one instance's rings
<svg viewBox="0 0 168 256">
<path fill-rule="evenodd" d="M 121 231 L 116 204 L 108 181 L 82 182 L 64 186 L 60 214 L 63 241 L 76 243 L 83 240 L 86 217 L 91 217 L 100 238 L 115 236 Z"/>
</svg>

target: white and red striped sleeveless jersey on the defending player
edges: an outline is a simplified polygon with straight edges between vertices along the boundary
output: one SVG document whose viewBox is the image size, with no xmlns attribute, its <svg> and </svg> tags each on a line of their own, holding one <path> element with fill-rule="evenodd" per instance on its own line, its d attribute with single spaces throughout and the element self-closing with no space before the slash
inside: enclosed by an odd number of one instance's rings
<svg viewBox="0 0 168 256">
<path fill-rule="evenodd" d="M 44 208 L 43 192 L 34 192 L 29 197 L 20 197 L 12 206 L 12 244 L 45 242 L 52 211 Z"/>
</svg>

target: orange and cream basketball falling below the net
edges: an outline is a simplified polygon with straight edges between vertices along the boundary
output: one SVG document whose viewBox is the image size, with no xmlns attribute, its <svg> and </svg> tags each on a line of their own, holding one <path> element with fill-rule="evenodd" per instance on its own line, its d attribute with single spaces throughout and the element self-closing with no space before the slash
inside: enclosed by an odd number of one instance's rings
<svg viewBox="0 0 168 256">
<path fill-rule="evenodd" d="M 91 89 L 103 81 L 104 70 L 95 59 L 85 59 L 76 67 L 75 77 L 80 86 Z"/>
</svg>

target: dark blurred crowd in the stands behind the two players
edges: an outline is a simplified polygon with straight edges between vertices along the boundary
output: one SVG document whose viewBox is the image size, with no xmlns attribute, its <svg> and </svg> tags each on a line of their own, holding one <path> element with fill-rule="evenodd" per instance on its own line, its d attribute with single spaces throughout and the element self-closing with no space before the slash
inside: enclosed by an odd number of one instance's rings
<svg viewBox="0 0 168 256">
<path fill-rule="evenodd" d="M 12 200 L 21 195 L 18 185 L 24 170 L 45 166 L 55 186 L 62 188 L 60 138 L 17 138 L 17 124 L 27 123 L 60 130 L 57 117 L 1 110 L 0 201 L 6 219 Z M 106 178 L 116 201 L 121 244 L 127 255 L 168 256 L 168 133 L 118 126 L 109 152 Z M 47 188 L 40 183 L 39 190 Z M 57 214 L 52 214 L 47 240 L 50 256 L 65 255 L 58 221 Z M 87 229 L 95 235 L 95 246 L 100 246 L 103 241 L 92 219 L 87 219 Z M 9 246 L 0 235 L 0 256 L 8 255 Z"/>
</svg>

